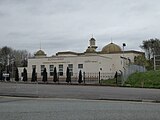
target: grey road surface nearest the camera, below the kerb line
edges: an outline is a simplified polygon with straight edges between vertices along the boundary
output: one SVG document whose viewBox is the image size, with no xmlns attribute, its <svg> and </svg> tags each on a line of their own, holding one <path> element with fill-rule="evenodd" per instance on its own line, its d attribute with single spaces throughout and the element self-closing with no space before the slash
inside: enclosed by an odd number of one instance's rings
<svg viewBox="0 0 160 120">
<path fill-rule="evenodd" d="M 0 97 L 0 120 L 159 120 L 160 104 Z"/>
</svg>

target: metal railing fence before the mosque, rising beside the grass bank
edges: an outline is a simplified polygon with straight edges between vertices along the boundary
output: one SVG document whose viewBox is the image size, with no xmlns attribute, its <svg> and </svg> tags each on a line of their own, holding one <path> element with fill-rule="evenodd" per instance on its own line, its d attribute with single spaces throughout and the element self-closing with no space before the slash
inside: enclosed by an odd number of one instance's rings
<svg viewBox="0 0 160 120">
<path fill-rule="evenodd" d="M 119 70 L 119 76 L 118 76 L 118 84 L 122 84 L 127 80 L 128 76 L 131 75 L 134 72 L 145 72 L 146 69 L 143 66 L 138 66 L 138 65 L 128 65 L 125 67 L 124 71 Z M 102 73 L 102 72 L 97 72 L 97 73 L 88 73 L 88 72 L 83 72 L 82 73 L 82 81 L 84 84 L 99 84 L 101 83 L 101 80 L 107 80 L 107 79 L 113 79 L 115 76 L 115 73 Z M 22 76 L 19 76 L 20 80 L 22 80 Z M 32 78 L 32 73 L 28 73 L 28 81 L 31 81 Z M 53 76 L 50 76 L 48 74 L 47 76 L 48 82 L 53 82 Z M 79 79 L 79 73 L 73 73 L 71 76 L 71 82 L 72 83 L 78 83 Z M 14 81 L 13 78 L 11 80 Z M 58 80 L 59 83 L 66 83 L 66 74 L 64 73 L 63 76 L 58 75 Z M 37 74 L 37 81 L 41 82 L 42 81 L 42 76 L 41 73 Z"/>
</svg>

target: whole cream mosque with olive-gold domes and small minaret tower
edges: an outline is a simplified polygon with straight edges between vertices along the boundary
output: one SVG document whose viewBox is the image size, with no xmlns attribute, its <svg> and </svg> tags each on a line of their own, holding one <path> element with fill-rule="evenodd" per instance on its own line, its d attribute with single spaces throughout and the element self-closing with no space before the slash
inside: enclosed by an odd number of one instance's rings
<svg viewBox="0 0 160 120">
<path fill-rule="evenodd" d="M 28 77 L 31 78 L 33 68 L 36 68 L 37 78 L 42 78 L 42 72 L 46 68 L 48 78 L 53 78 L 53 71 L 56 67 L 59 78 L 66 77 L 66 69 L 69 67 L 73 78 L 77 78 L 79 71 L 88 74 L 103 74 L 101 79 L 113 78 L 116 71 L 124 71 L 127 66 L 134 63 L 135 56 L 144 55 L 139 51 L 124 51 L 111 42 L 104 46 L 101 51 L 97 51 L 96 40 L 92 37 L 89 40 L 90 45 L 83 53 L 72 51 L 57 52 L 56 55 L 48 57 L 43 50 L 38 50 L 34 57 L 28 59 L 26 67 Z M 19 73 L 23 68 L 19 68 Z"/>
</svg>

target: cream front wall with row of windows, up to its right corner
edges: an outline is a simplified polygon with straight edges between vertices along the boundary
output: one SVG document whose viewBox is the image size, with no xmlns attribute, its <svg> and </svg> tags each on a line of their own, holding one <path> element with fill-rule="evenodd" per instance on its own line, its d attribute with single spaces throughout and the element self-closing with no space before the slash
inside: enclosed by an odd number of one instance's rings
<svg viewBox="0 0 160 120">
<path fill-rule="evenodd" d="M 49 65 L 54 65 L 59 71 L 59 65 L 63 64 L 64 75 L 68 64 L 73 64 L 73 73 L 78 73 L 79 70 L 82 72 L 98 73 L 100 68 L 102 72 L 113 72 L 111 69 L 112 59 L 108 57 L 101 57 L 99 55 L 92 56 L 56 56 L 50 58 L 31 58 L 28 59 L 28 73 L 32 73 L 32 65 L 36 65 L 36 72 L 41 73 L 41 65 L 45 65 L 47 72 L 49 73 Z M 83 69 L 78 69 L 78 64 L 83 64 Z"/>
</svg>

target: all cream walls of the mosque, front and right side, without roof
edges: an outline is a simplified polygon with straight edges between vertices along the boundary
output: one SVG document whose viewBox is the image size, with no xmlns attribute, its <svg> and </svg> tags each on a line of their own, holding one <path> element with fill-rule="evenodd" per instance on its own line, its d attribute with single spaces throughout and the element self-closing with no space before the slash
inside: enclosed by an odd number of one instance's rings
<svg viewBox="0 0 160 120">
<path fill-rule="evenodd" d="M 50 76 L 49 66 L 54 65 L 59 71 L 59 65 L 63 64 L 63 75 L 66 74 L 68 64 L 73 64 L 73 73 L 77 73 L 82 70 L 86 73 L 109 73 L 115 74 L 116 71 L 124 71 L 124 67 L 128 63 L 128 60 L 121 58 L 124 55 L 125 58 L 130 58 L 134 61 L 135 53 L 118 53 L 118 54 L 95 54 L 95 55 L 79 55 L 79 56 L 53 56 L 53 57 L 37 57 L 28 59 L 27 71 L 29 76 L 32 74 L 32 65 L 36 65 L 36 72 L 38 77 L 41 77 L 41 65 L 45 65 L 48 76 Z M 123 64 L 123 62 L 125 64 Z M 83 64 L 83 69 L 78 68 L 78 64 Z M 19 69 L 22 71 L 22 69 Z M 20 72 L 21 73 L 21 72 Z"/>
</svg>

